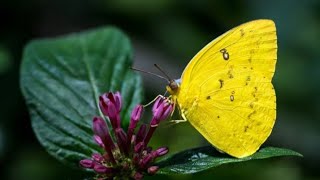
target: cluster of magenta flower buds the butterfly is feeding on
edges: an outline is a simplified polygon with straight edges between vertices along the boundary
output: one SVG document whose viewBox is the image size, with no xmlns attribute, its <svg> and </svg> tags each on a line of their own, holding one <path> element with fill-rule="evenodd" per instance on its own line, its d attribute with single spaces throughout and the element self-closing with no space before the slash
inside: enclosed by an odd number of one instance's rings
<svg viewBox="0 0 320 180">
<path fill-rule="evenodd" d="M 155 159 L 168 153 L 167 147 L 152 150 L 148 146 L 150 138 L 158 124 L 171 115 L 173 104 L 159 97 L 153 105 L 153 117 L 150 125 L 142 124 L 135 133 L 143 114 L 143 106 L 137 105 L 130 117 L 128 131 L 120 127 L 121 95 L 105 93 L 99 98 L 101 112 L 108 117 L 112 126 L 109 130 L 102 117 L 93 118 L 94 141 L 104 153 L 94 153 L 90 159 L 83 159 L 80 165 L 96 172 L 96 179 L 142 179 L 144 175 L 153 175 L 159 167 Z"/>
</svg>

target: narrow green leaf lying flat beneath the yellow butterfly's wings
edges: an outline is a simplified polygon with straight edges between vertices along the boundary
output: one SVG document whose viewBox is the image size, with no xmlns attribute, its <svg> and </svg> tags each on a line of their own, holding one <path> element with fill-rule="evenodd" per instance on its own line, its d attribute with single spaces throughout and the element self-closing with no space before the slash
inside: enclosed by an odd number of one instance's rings
<svg viewBox="0 0 320 180">
<path fill-rule="evenodd" d="M 283 148 L 265 147 L 245 158 L 234 158 L 219 153 L 212 146 L 200 147 L 177 153 L 158 163 L 159 174 L 191 174 L 223 164 L 266 159 L 276 156 L 300 156 L 301 154 Z"/>
</svg>

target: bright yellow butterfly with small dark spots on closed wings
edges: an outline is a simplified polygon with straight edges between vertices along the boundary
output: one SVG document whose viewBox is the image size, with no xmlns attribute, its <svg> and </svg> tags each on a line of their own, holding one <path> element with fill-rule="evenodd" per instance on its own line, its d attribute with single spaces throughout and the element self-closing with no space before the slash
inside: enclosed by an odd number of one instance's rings
<svg viewBox="0 0 320 180">
<path fill-rule="evenodd" d="M 242 158 L 271 134 L 276 96 L 271 83 L 277 61 L 272 20 L 255 20 L 206 45 L 167 86 L 184 121 L 215 148 Z"/>
</svg>

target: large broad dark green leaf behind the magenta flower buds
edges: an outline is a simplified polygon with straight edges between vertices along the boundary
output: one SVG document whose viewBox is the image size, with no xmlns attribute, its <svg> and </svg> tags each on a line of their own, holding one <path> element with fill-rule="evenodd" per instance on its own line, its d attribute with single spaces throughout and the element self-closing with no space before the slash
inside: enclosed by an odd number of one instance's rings
<svg viewBox="0 0 320 180">
<path fill-rule="evenodd" d="M 20 84 L 32 127 L 57 159 L 78 166 L 98 151 L 92 118 L 100 115 L 98 97 L 120 91 L 122 125 L 142 99 L 141 78 L 129 67 L 128 38 L 113 27 L 29 43 L 23 54 Z"/>
</svg>

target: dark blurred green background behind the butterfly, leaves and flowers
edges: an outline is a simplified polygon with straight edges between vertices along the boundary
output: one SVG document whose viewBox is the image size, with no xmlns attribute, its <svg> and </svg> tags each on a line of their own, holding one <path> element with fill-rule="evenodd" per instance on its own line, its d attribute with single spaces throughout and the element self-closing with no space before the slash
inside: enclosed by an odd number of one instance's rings
<svg viewBox="0 0 320 180">
<path fill-rule="evenodd" d="M 277 122 L 266 145 L 296 150 L 304 158 L 278 158 L 221 166 L 194 175 L 158 179 L 320 179 L 320 1 L 318 0 L 2 0 L 0 2 L 0 179 L 79 179 L 46 153 L 32 132 L 19 90 L 24 45 L 34 38 L 115 25 L 133 42 L 135 66 L 163 67 L 172 77 L 204 45 L 246 21 L 269 18 L 278 32 L 274 78 Z M 166 82 L 144 77 L 146 101 Z M 169 133 L 168 133 L 169 132 Z M 188 123 L 164 124 L 154 146 L 171 153 L 206 144 Z M 149 178 L 151 179 L 151 178 Z"/>
</svg>

